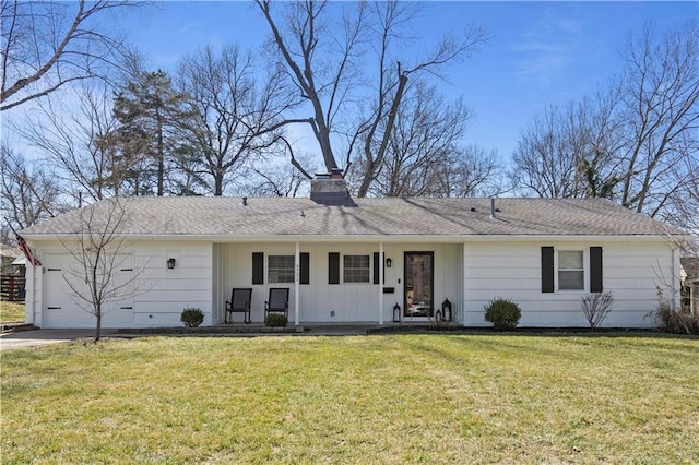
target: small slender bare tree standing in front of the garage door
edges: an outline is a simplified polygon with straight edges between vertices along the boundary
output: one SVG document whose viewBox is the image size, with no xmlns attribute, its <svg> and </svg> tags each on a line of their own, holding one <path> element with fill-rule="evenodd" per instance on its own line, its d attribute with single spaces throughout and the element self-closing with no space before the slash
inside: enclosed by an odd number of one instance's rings
<svg viewBox="0 0 699 465">
<path fill-rule="evenodd" d="M 132 242 L 123 234 L 127 207 L 128 200 L 119 198 L 88 205 L 80 211 L 75 233 L 60 239 L 74 263 L 63 279 L 73 302 L 95 317 L 95 342 L 102 335 L 107 305 L 131 298 L 144 287 L 139 277 L 147 265 L 134 269 L 129 262 Z"/>
</svg>

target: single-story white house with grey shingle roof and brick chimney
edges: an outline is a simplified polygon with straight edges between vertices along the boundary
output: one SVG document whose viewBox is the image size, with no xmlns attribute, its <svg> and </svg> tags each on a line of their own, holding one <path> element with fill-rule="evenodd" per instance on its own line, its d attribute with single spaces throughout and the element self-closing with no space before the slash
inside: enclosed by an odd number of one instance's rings
<svg viewBox="0 0 699 465">
<path fill-rule="evenodd" d="M 204 325 L 222 324 L 232 288 L 252 289 L 252 322 L 263 321 L 270 288 L 287 288 L 297 325 L 427 322 L 449 300 L 453 321 L 484 326 L 484 306 L 501 297 L 520 305 L 521 326 L 587 326 L 581 298 L 609 290 L 604 326 L 649 327 L 659 288 L 679 301 L 667 234 L 682 231 L 607 200 L 351 199 L 328 177 L 306 199 L 122 202 L 125 286 L 104 327 L 177 326 L 189 307 Z M 85 208 L 100 218 L 112 204 Z M 94 326 L 67 287 L 85 208 L 21 231 L 42 263 L 27 270 L 27 322 Z"/>
</svg>

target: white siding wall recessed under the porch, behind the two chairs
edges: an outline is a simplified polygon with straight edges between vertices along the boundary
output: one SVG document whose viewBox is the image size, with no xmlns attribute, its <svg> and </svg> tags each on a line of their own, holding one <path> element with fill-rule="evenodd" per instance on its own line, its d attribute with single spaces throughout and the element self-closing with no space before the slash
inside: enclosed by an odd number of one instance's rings
<svg viewBox="0 0 699 465">
<path fill-rule="evenodd" d="M 295 242 L 289 243 L 226 243 L 214 245 L 214 251 L 225 265 L 217 267 L 224 279 L 216 279 L 223 284 L 221 289 L 214 294 L 214 314 L 217 322 L 223 321 L 225 300 L 230 298 L 233 287 L 251 287 L 252 305 L 251 319 L 253 322 L 264 320 L 264 301 L 269 297 L 270 287 L 289 288 L 289 320 L 294 320 L 295 293 L 294 283 L 268 283 L 268 257 L 269 255 L 294 255 Z M 374 284 L 374 263 L 370 260 L 371 273 L 369 283 L 343 283 L 341 273 L 341 284 L 328 284 L 328 254 L 339 252 L 346 254 L 372 255 L 379 252 L 379 242 L 354 242 L 335 245 L 332 242 L 299 243 L 301 253 L 309 253 L 310 284 L 299 285 L 299 320 L 300 323 L 345 323 L 345 322 L 379 322 L 379 305 L 383 287 L 393 287 L 394 294 L 383 294 L 382 317 L 384 322 L 392 321 L 393 306 L 398 302 L 403 307 L 403 253 L 406 251 L 431 251 L 435 253 L 435 306 L 440 306 L 448 297 L 454 307 L 458 307 L 461 282 L 461 245 L 433 245 L 433 243 L 383 243 L 386 258 L 390 258 L 392 266 L 386 269 L 384 285 Z M 264 284 L 252 285 L 252 253 L 264 253 Z M 454 308 L 454 311 L 457 309 Z M 334 315 L 332 314 L 334 312 Z M 239 321 L 241 315 L 234 314 L 234 319 Z"/>
</svg>

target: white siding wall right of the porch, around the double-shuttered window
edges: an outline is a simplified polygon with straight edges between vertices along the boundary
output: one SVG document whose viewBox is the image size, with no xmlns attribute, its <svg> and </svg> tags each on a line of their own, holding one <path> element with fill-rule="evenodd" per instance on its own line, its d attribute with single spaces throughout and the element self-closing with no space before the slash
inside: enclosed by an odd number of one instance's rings
<svg viewBox="0 0 699 465">
<path fill-rule="evenodd" d="M 584 251 L 585 290 L 541 290 L 541 248 Z M 657 305 L 657 287 L 673 295 L 675 266 L 666 242 L 628 241 L 520 241 L 471 242 L 464 245 L 465 325 L 489 325 L 484 306 L 493 298 L 508 298 L 520 305 L 520 326 L 587 326 L 580 309 L 590 289 L 589 248 L 603 248 L 603 287 L 614 293 L 613 310 L 603 326 L 650 327 L 647 314 Z M 557 258 L 557 253 L 555 257 Z M 557 259 L 555 275 L 557 275 Z"/>
</svg>

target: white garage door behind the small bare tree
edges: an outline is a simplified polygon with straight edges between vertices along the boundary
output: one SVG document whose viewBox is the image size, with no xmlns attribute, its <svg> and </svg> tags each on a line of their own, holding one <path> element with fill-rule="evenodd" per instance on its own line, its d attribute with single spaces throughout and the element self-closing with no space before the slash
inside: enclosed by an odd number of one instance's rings
<svg viewBox="0 0 699 465">
<path fill-rule="evenodd" d="M 129 327 L 133 324 L 133 255 L 119 255 L 109 289 L 118 288 L 118 296 L 103 306 L 102 327 Z M 44 327 L 95 327 L 96 319 L 81 306 L 66 279 L 81 295 L 87 296 L 87 285 L 73 274 L 80 270 L 68 253 L 49 254 L 44 261 Z M 78 305 L 80 302 L 80 306 Z"/>
</svg>

